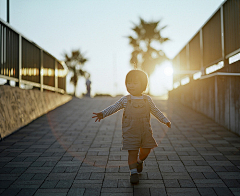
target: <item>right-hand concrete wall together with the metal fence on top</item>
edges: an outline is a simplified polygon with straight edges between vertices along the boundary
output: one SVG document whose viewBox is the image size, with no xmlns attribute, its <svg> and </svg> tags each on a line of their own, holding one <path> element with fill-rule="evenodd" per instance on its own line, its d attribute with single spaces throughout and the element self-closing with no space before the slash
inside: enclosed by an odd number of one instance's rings
<svg viewBox="0 0 240 196">
<path fill-rule="evenodd" d="M 239 52 L 240 1 L 226 0 L 173 59 L 169 98 L 240 134 Z"/>
</svg>

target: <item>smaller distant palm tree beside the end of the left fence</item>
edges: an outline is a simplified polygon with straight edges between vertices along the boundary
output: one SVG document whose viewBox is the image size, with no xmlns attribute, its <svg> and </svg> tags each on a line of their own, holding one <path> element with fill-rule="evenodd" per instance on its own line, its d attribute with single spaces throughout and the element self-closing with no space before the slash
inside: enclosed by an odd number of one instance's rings
<svg viewBox="0 0 240 196">
<path fill-rule="evenodd" d="M 80 52 L 80 50 L 73 50 L 71 52 L 71 56 L 68 56 L 68 54 L 65 53 L 64 57 L 65 57 L 64 61 L 68 69 L 73 73 L 73 76 L 70 82 L 73 83 L 74 85 L 73 95 L 76 96 L 76 87 L 77 87 L 78 78 L 80 76 L 85 77 L 87 75 L 87 72 L 84 71 L 82 68 L 84 64 L 88 61 L 88 59 L 84 57 L 84 55 Z"/>
</svg>

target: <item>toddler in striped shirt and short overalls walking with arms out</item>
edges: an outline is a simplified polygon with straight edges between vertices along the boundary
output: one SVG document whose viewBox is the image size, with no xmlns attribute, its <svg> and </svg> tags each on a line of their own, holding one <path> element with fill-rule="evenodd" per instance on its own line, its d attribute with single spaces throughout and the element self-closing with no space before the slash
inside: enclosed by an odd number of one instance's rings
<svg viewBox="0 0 240 196">
<path fill-rule="evenodd" d="M 125 85 L 130 95 L 119 99 L 115 104 L 98 113 L 93 113 L 95 122 L 124 109 L 122 117 L 123 150 L 128 150 L 128 165 L 130 182 L 139 182 L 138 173 L 143 170 L 143 161 L 148 157 L 151 149 L 157 147 L 150 125 L 150 113 L 169 128 L 171 122 L 155 106 L 152 99 L 144 95 L 148 84 L 147 75 L 140 70 L 128 72 Z"/>
</svg>

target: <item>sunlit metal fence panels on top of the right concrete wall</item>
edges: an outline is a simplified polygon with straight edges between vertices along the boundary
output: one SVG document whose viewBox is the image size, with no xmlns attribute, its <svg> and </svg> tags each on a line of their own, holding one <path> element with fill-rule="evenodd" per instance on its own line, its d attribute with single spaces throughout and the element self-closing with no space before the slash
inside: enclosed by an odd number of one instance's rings
<svg viewBox="0 0 240 196">
<path fill-rule="evenodd" d="M 206 75 L 206 69 L 223 63 L 240 52 L 240 1 L 225 0 L 219 9 L 200 28 L 193 38 L 172 60 L 175 71 L 173 82 L 192 77 L 195 72 Z M 192 74 L 189 71 L 192 71 Z M 233 72 L 238 72 L 232 70 Z M 185 74 L 184 74 L 185 73 Z"/>
</svg>

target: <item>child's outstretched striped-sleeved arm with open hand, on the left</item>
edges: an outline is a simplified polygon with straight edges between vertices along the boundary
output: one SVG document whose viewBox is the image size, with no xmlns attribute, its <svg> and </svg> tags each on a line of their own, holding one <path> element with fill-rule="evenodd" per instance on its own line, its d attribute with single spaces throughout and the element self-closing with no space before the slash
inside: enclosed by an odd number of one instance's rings
<svg viewBox="0 0 240 196">
<path fill-rule="evenodd" d="M 126 99 L 126 97 L 122 97 L 117 102 L 115 102 L 113 105 L 110 105 L 109 107 L 102 110 L 101 112 L 93 113 L 93 114 L 95 114 L 95 116 L 93 116 L 92 118 L 96 118 L 95 122 L 97 122 L 97 121 L 100 122 L 100 120 L 104 119 L 105 117 L 116 113 L 117 111 L 124 108 L 125 99 Z"/>
</svg>

